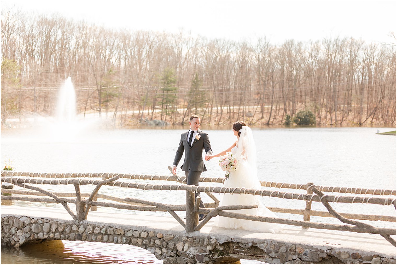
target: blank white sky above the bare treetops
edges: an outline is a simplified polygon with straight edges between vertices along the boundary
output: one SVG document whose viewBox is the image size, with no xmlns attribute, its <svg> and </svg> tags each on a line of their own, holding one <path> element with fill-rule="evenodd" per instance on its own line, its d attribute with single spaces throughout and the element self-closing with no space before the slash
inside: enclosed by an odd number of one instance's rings
<svg viewBox="0 0 397 265">
<path fill-rule="evenodd" d="M 397 25 L 396 0 L 2 0 L 2 8 L 12 5 L 112 28 L 183 29 L 231 40 L 266 36 L 274 44 L 334 36 L 389 43 Z"/>
</svg>

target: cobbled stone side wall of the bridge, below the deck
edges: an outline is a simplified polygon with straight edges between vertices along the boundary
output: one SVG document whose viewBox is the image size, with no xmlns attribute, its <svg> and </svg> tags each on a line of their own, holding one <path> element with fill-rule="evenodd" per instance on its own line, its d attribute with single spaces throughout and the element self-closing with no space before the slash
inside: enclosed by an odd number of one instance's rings
<svg viewBox="0 0 397 265">
<path fill-rule="evenodd" d="M 378 255 L 317 249 L 312 246 L 285 244 L 275 240 L 261 242 L 218 242 L 204 235 L 162 234 L 154 230 L 134 230 L 87 222 L 51 221 L 30 217 L 1 218 L 2 246 L 19 247 L 44 240 L 81 240 L 129 244 L 145 248 L 166 264 L 230 263 L 238 259 L 257 259 L 285 264 L 396 264 L 395 259 Z"/>
</svg>

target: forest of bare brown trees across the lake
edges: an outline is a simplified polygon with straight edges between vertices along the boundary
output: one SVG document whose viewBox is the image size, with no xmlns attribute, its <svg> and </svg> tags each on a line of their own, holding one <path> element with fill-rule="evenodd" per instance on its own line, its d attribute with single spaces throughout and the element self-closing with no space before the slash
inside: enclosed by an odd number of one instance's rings
<svg viewBox="0 0 397 265">
<path fill-rule="evenodd" d="M 121 126 L 145 119 L 281 125 L 396 125 L 396 46 L 353 38 L 251 42 L 107 29 L 59 15 L 1 13 L 1 115 L 52 115 L 70 76 L 78 113 Z"/>
</svg>

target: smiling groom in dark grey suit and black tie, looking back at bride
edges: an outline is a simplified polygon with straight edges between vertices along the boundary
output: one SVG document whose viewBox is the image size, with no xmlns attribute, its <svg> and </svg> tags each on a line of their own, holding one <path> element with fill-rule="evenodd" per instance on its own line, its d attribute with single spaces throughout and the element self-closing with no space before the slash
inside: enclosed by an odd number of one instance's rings
<svg viewBox="0 0 397 265">
<path fill-rule="evenodd" d="M 200 118 L 197 115 L 191 115 L 189 119 L 190 129 L 181 135 L 178 149 L 173 161 L 172 173 L 176 174 L 176 167 L 182 158 L 183 151 L 185 151 L 185 161 L 181 167 L 185 171 L 188 185 L 198 186 L 198 180 L 202 171 L 207 171 L 202 158 L 202 150 L 206 154 L 212 155 L 212 149 L 208 134 L 200 131 Z M 200 196 L 199 192 L 195 193 L 195 197 Z M 200 207 L 205 208 L 203 202 L 200 202 Z M 203 214 L 199 215 L 198 220 L 204 218 Z"/>
</svg>

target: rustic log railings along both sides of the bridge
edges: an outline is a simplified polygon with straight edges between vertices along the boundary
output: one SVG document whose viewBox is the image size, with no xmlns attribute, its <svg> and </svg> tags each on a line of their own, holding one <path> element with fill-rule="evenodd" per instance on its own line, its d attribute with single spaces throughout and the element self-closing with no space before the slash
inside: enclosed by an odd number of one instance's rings
<svg viewBox="0 0 397 265">
<path fill-rule="evenodd" d="M 67 212 L 72 216 L 76 222 L 81 222 L 87 219 L 89 209 L 93 206 L 102 207 L 114 207 L 118 209 L 129 209 L 138 211 L 168 211 L 186 230 L 186 232 L 193 232 L 194 230 L 200 230 L 210 219 L 217 215 L 246 219 L 252 221 L 261 221 L 268 223 L 279 223 L 284 225 L 295 225 L 304 228 L 315 228 L 315 229 L 329 229 L 329 230 L 343 230 L 360 233 L 371 233 L 380 234 L 391 244 L 396 246 L 396 242 L 390 235 L 396 234 L 396 229 L 381 228 L 368 225 L 355 220 L 380 220 L 396 222 L 395 216 L 387 215 L 368 215 L 368 214 L 353 214 L 353 213 L 337 213 L 329 204 L 334 203 L 361 203 L 361 204 L 376 204 L 376 205 L 393 205 L 396 208 L 395 190 L 384 190 L 384 189 L 365 189 L 365 188 L 344 188 L 344 187 L 328 187 L 328 186 L 316 186 L 309 182 L 307 184 L 289 184 L 279 182 L 264 182 L 262 186 L 275 187 L 275 188 L 286 188 L 286 189 L 297 189 L 306 190 L 306 193 L 295 193 L 295 192 L 283 192 L 277 190 L 255 190 L 251 188 L 237 187 L 237 188 L 225 188 L 216 186 L 194 186 L 183 184 L 185 177 L 178 177 L 176 175 L 164 176 L 164 175 L 133 175 L 133 174 L 116 174 L 116 173 L 29 173 L 29 172 L 13 172 L 13 171 L 2 171 L 1 181 L 12 183 L 14 185 L 28 188 L 34 191 L 26 190 L 9 190 L 2 189 L 3 192 L 11 194 L 20 194 L 23 196 L 2 196 L 2 200 L 21 200 L 29 202 L 52 202 L 62 204 Z M 66 179 L 68 178 L 68 179 Z M 102 178 L 101 180 L 94 180 L 93 178 Z M 161 180 L 161 181 L 176 181 L 180 184 L 149 184 L 149 183 L 136 183 L 136 182 L 123 182 L 118 181 L 119 179 L 141 179 L 141 180 Z M 223 178 L 200 178 L 202 182 L 215 182 L 221 183 Z M 185 182 L 186 183 L 186 182 Z M 42 188 L 31 186 L 30 184 L 50 184 L 50 185 L 68 185 L 73 184 L 75 187 L 75 193 L 65 192 L 48 192 Z M 93 192 L 84 193 L 80 192 L 80 185 L 96 185 Z M 115 196 L 109 196 L 105 194 L 98 194 L 98 191 L 102 185 L 115 186 L 123 188 L 135 188 L 141 190 L 184 190 L 186 193 L 186 203 L 183 205 L 172 205 L 162 204 L 159 202 L 150 202 L 137 198 L 118 198 Z M 204 192 L 214 200 L 212 203 L 205 204 L 206 208 L 199 208 L 201 198 L 195 199 L 195 192 Z M 324 192 L 343 193 L 344 195 L 332 195 L 324 194 Z M 274 217 L 260 217 L 255 215 L 247 215 L 242 213 L 229 212 L 227 210 L 236 209 L 250 209 L 256 208 L 257 205 L 228 205 L 219 207 L 219 200 L 212 195 L 212 193 L 230 193 L 230 194 L 251 194 L 257 196 L 268 196 L 283 198 L 289 200 L 302 200 L 306 202 L 305 209 L 287 209 L 279 207 L 268 207 L 271 211 L 280 213 L 293 213 L 303 215 L 303 221 L 285 219 L 285 218 L 274 218 Z M 347 193 L 351 194 L 364 194 L 364 196 L 348 196 Z M 46 195 L 49 198 L 38 198 L 37 196 Z M 370 196 L 365 196 L 370 195 Z M 378 195 L 378 196 L 375 196 Z M 30 197 L 29 197 L 30 196 Z M 31 197 L 35 196 L 35 197 Z M 76 199 L 67 198 L 75 197 Z M 102 198 L 111 200 L 118 203 L 109 202 L 98 202 L 96 199 Z M 326 211 L 314 211 L 311 209 L 312 202 L 321 202 L 324 204 Z M 71 211 L 67 203 L 73 203 L 76 205 L 76 214 Z M 186 222 L 184 222 L 175 211 L 186 212 Z M 198 214 L 206 214 L 206 217 L 198 223 Z M 348 225 L 337 225 L 331 223 L 316 223 L 310 222 L 310 216 L 322 216 L 322 217 L 335 217 L 341 222 Z M 353 220 L 354 219 L 354 220 Z"/>
</svg>

